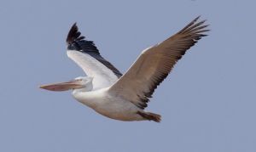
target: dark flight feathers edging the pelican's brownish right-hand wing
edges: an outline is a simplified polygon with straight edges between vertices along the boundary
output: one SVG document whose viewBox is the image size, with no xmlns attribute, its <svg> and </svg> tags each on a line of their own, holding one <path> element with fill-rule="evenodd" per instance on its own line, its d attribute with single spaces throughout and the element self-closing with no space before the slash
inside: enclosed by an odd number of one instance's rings
<svg viewBox="0 0 256 152">
<path fill-rule="evenodd" d="M 174 36 L 168 38 L 166 41 L 162 42 L 163 44 L 167 41 L 173 41 L 173 43 L 180 43 L 181 47 L 170 47 L 170 49 L 177 49 L 177 53 L 170 54 L 170 57 L 174 57 L 176 60 L 174 61 L 174 64 L 166 64 L 164 65 L 163 69 L 161 70 L 160 74 L 156 77 L 154 77 L 153 84 L 149 88 L 149 92 L 144 93 L 144 97 L 140 97 L 142 103 L 138 104 L 139 108 L 146 108 L 148 106 L 149 98 L 152 98 L 152 94 L 154 93 L 154 90 L 160 85 L 161 82 L 163 82 L 166 79 L 166 76 L 169 75 L 171 72 L 173 66 L 177 63 L 179 59 L 183 57 L 183 55 L 189 50 L 189 48 L 193 47 L 196 42 L 198 42 L 201 37 L 206 37 L 207 34 L 202 34 L 204 32 L 210 31 L 205 28 L 207 28 L 209 25 L 204 25 L 204 23 L 207 20 L 202 20 L 200 22 L 197 22 L 197 20 L 200 19 L 201 16 L 198 16 L 195 18 L 195 20 L 192 20 L 189 25 L 186 25 L 181 31 L 178 31 L 177 34 Z M 177 37 L 177 41 L 175 41 Z M 159 44 L 161 45 L 161 43 Z M 165 45 L 165 44 L 164 44 Z M 182 46 L 183 45 L 183 46 Z M 158 47 L 158 46 L 156 46 Z"/>
</svg>

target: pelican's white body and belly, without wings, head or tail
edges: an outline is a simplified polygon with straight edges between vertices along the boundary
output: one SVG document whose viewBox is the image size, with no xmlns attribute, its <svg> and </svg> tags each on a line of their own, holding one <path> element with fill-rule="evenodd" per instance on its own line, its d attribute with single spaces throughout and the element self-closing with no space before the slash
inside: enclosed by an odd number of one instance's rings
<svg viewBox="0 0 256 152">
<path fill-rule="evenodd" d="M 115 96 L 108 92 L 108 88 L 84 93 L 73 91 L 73 97 L 80 103 L 109 118 L 120 121 L 142 121 L 145 119 L 141 115 L 137 115 L 137 111 L 143 112 L 143 110 L 131 102 Z"/>
</svg>

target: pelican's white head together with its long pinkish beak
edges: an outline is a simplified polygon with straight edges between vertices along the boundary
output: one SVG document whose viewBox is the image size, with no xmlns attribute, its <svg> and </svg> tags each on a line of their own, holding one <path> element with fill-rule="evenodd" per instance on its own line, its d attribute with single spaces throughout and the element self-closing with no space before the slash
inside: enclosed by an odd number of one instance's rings
<svg viewBox="0 0 256 152">
<path fill-rule="evenodd" d="M 69 82 L 59 82 L 40 86 L 50 91 L 67 91 L 70 89 L 77 90 L 79 92 L 86 92 L 92 89 L 92 77 L 90 76 L 79 76 Z"/>
</svg>

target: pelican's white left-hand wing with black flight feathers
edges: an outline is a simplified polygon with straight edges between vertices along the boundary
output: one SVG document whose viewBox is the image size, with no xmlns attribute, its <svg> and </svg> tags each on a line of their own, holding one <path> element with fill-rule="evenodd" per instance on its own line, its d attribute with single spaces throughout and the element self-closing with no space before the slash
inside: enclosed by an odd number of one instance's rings
<svg viewBox="0 0 256 152">
<path fill-rule="evenodd" d="M 93 77 L 93 89 L 109 87 L 122 74 L 108 60 L 102 58 L 94 42 L 80 36 L 78 26 L 73 24 L 67 35 L 67 56 Z"/>
</svg>

